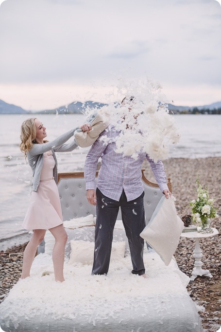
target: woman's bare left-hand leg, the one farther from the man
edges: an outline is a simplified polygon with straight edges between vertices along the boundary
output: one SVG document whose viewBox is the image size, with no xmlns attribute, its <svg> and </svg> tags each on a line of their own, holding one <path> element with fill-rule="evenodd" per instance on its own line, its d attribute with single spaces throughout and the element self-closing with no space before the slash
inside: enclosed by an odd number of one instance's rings
<svg viewBox="0 0 221 332">
<path fill-rule="evenodd" d="M 44 239 L 45 232 L 45 229 L 34 229 L 33 236 L 28 242 L 24 251 L 21 279 L 30 277 L 30 270 L 34 260 L 34 256 L 36 254 L 37 246 Z"/>
</svg>

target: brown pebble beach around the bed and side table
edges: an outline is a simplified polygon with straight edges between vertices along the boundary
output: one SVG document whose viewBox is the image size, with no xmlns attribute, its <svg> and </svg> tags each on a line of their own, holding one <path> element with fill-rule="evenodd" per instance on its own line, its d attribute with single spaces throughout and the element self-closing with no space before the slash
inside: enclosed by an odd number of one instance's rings
<svg viewBox="0 0 221 332">
<path fill-rule="evenodd" d="M 207 185 L 210 198 L 216 198 L 215 207 L 221 216 L 221 157 L 169 159 L 164 162 L 164 166 L 167 177 L 171 179 L 172 192 L 176 198 L 177 214 L 180 217 L 190 214 L 189 202 L 196 198 L 197 176 L 199 176 L 203 187 Z M 155 182 L 148 163 L 144 162 L 143 167 L 146 168 L 147 178 Z M 221 234 L 221 217 L 212 221 L 211 227 L 217 228 Z M 199 306 L 204 307 L 204 311 L 199 312 L 199 314 L 207 332 L 216 332 L 221 326 L 220 234 L 200 241 L 204 255 L 202 268 L 208 269 L 213 277 L 197 277 L 194 281 L 190 281 L 187 286 L 187 291 L 192 299 Z M 20 277 L 26 244 L 0 252 L 0 302 Z M 181 238 L 174 255 L 180 270 L 187 276 L 191 275 L 194 267 L 194 246 L 194 239 Z"/>
</svg>

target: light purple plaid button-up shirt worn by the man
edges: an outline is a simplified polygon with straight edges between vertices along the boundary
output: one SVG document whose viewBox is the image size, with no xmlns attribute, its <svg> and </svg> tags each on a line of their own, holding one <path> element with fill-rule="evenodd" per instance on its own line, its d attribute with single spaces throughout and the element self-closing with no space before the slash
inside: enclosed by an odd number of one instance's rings
<svg viewBox="0 0 221 332">
<path fill-rule="evenodd" d="M 154 163 L 144 152 L 139 153 L 137 160 L 131 156 L 123 157 L 122 153 L 115 152 L 115 140 L 118 133 L 114 126 L 109 126 L 100 137 L 106 135 L 110 139 L 108 142 L 111 143 L 104 144 L 99 137 L 89 150 L 85 161 L 86 190 L 96 189 L 95 175 L 100 157 L 102 157 L 102 166 L 98 173 L 97 187 L 104 196 L 119 201 L 124 189 L 127 201 L 139 197 L 144 190 L 141 180 L 141 166 L 144 158 L 149 161 L 161 191 L 168 189 L 164 166 L 160 160 Z"/>
</svg>

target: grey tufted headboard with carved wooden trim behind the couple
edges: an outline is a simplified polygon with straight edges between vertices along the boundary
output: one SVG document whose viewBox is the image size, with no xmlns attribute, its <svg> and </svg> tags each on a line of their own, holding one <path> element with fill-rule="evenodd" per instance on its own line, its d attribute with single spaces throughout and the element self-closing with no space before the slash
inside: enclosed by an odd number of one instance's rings
<svg viewBox="0 0 221 332">
<path fill-rule="evenodd" d="M 158 184 L 154 184 L 147 180 L 144 171 L 145 169 L 142 169 L 142 181 L 145 191 L 144 207 L 146 222 L 148 222 L 163 194 L 160 191 Z M 97 175 L 98 171 L 96 173 L 96 176 Z M 84 172 L 59 173 L 57 186 L 64 221 L 72 218 L 85 217 L 89 214 L 96 215 L 96 207 L 89 204 L 86 199 Z M 170 178 L 168 179 L 168 187 L 171 191 Z M 120 211 L 118 219 L 121 219 Z"/>
</svg>

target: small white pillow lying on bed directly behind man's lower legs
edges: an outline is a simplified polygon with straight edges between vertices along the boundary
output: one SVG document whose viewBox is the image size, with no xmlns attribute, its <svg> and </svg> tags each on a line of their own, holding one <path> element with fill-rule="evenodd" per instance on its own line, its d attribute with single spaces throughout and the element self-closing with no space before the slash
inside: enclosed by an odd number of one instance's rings
<svg viewBox="0 0 221 332">
<path fill-rule="evenodd" d="M 94 260 L 94 242 L 83 240 L 70 240 L 69 263 L 82 263 L 92 265 Z M 111 261 L 124 258 L 125 242 L 113 242 L 111 250 Z"/>
</svg>

